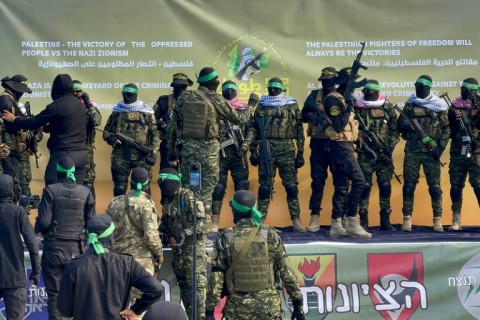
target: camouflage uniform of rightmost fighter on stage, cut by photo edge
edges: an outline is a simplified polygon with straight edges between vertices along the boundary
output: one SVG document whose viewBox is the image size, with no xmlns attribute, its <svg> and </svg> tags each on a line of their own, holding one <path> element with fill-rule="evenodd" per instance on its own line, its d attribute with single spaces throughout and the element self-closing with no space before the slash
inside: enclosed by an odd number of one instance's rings
<svg viewBox="0 0 480 320">
<path fill-rule="evenodd" d="M 478 111 L 472 106 L 470 99 L 458 97 L 452 101 L 453 109 L 448 112 L 451 128 L 450 164 L 450 199 L 452 200 L 452 227 L 451 230 L 461 230 L 460 215 L 462 212 L 463 189 L 468 179 L 473 188 L 477 201 L 480 203 L 480 121 Z M 470 146 L 462 139 L 465 134 L 460 130 L 459 121 L 455 117 L 455 110 L 459 110 L 466 134 L 470 137 Z M 470 150 L 469 150 L 470 149 Z"/>
</svg>

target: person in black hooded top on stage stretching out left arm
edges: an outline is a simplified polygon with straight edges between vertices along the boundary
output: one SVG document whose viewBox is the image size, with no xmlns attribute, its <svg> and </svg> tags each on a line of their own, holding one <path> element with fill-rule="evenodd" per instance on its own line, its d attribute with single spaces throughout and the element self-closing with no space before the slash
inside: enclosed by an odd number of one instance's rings
<svg viewBox="0 0 480 320">
<path fill-rule="evenodd" d="M 75 162 L 75 177 L 83 184 L 87 157 L 86 112 L 73 91 L 73 81 L 68 74 L 59 74 L 53 80 L 52 99 L 42 112 L 31 118 L 19 118 L 3 110 L 3 120 L 19 129 L 37 129 L 50 133 L 47 147 L 50 158 L 45 169 L 45 185 L 57 182 L 58 160 L 68 155 Z"/>
</svg>

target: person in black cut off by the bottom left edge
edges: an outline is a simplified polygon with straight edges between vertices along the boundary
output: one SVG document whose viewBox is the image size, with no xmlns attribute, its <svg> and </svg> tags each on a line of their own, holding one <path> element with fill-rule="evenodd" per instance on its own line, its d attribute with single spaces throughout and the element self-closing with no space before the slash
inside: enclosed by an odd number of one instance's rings
<svg viewBox="0 0 480 320">
<path fill-rule="evenodd" d="M 29 279 L 38 285 L 40 280 L 40 255 L 32 225 L 22 207 L 12 203 L 13 179 L 0 175 L 0 299 L 3 298 L 7 319 L 23 319 L 27 301 L 27 280 L 23 243 L 32 261 Z"/>
</svg>

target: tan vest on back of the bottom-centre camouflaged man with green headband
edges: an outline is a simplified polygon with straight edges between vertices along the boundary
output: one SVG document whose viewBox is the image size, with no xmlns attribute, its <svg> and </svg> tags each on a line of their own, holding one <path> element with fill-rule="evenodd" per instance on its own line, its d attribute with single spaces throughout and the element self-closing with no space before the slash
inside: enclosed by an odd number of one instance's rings
<svg viewBox="0 0 480 320">
<path fill-rule="evenodd" d="M 232 261 L 239 254 L 243 244 L 248 238 L 249 232 L 238 232 L 232 228 L 225 230 L 225 237 L 229 243 Z M 237 265 L 227 287 L 235 288 L 235 292 L 258 292 L 273 288 L 275 278 L 273 266 L 270 264 L 268 255 L 268 229 L 261 227 L 253 238 L 247 253 Z M 230 294 L 234 292 L 229 292 Z"/>
</svg>

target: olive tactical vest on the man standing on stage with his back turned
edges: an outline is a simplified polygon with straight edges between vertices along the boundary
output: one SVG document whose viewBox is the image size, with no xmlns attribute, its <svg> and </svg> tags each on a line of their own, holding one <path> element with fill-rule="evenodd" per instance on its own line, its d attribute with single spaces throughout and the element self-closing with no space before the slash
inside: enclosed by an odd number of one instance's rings
<svg viewBox="0 0 480 320">
<path fill-rule="evenodd" d="M 181 137 L 193 139 L 219 139 L 220 126 L 217 111 L 203 91 L 185 91 L 182 110 Z"/>
</svg>

